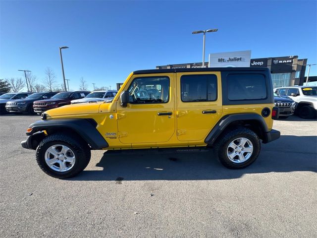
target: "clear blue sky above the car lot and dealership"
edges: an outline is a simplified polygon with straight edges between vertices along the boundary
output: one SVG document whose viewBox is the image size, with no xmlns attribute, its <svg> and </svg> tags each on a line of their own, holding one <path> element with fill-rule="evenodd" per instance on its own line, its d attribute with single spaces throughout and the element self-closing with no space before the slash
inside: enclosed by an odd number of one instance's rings
<svg viewBox="0 0 317 238">
<path fill-rule="evenodd" d="M 69 88 L 83 77 L 93 90 L 124 82 L 130 72 L 201 62 L 208 54 L 251 50 L 251 58 L 299 56 L 317 63 L 317 1 L 3 1 L 0 78 L 31 70 L 38 83 L 51 67 Z M 307 74 L 307 70 L 306 70 Z M 317 65 L 310 75 L 317 75 Z"/>
</svg>

